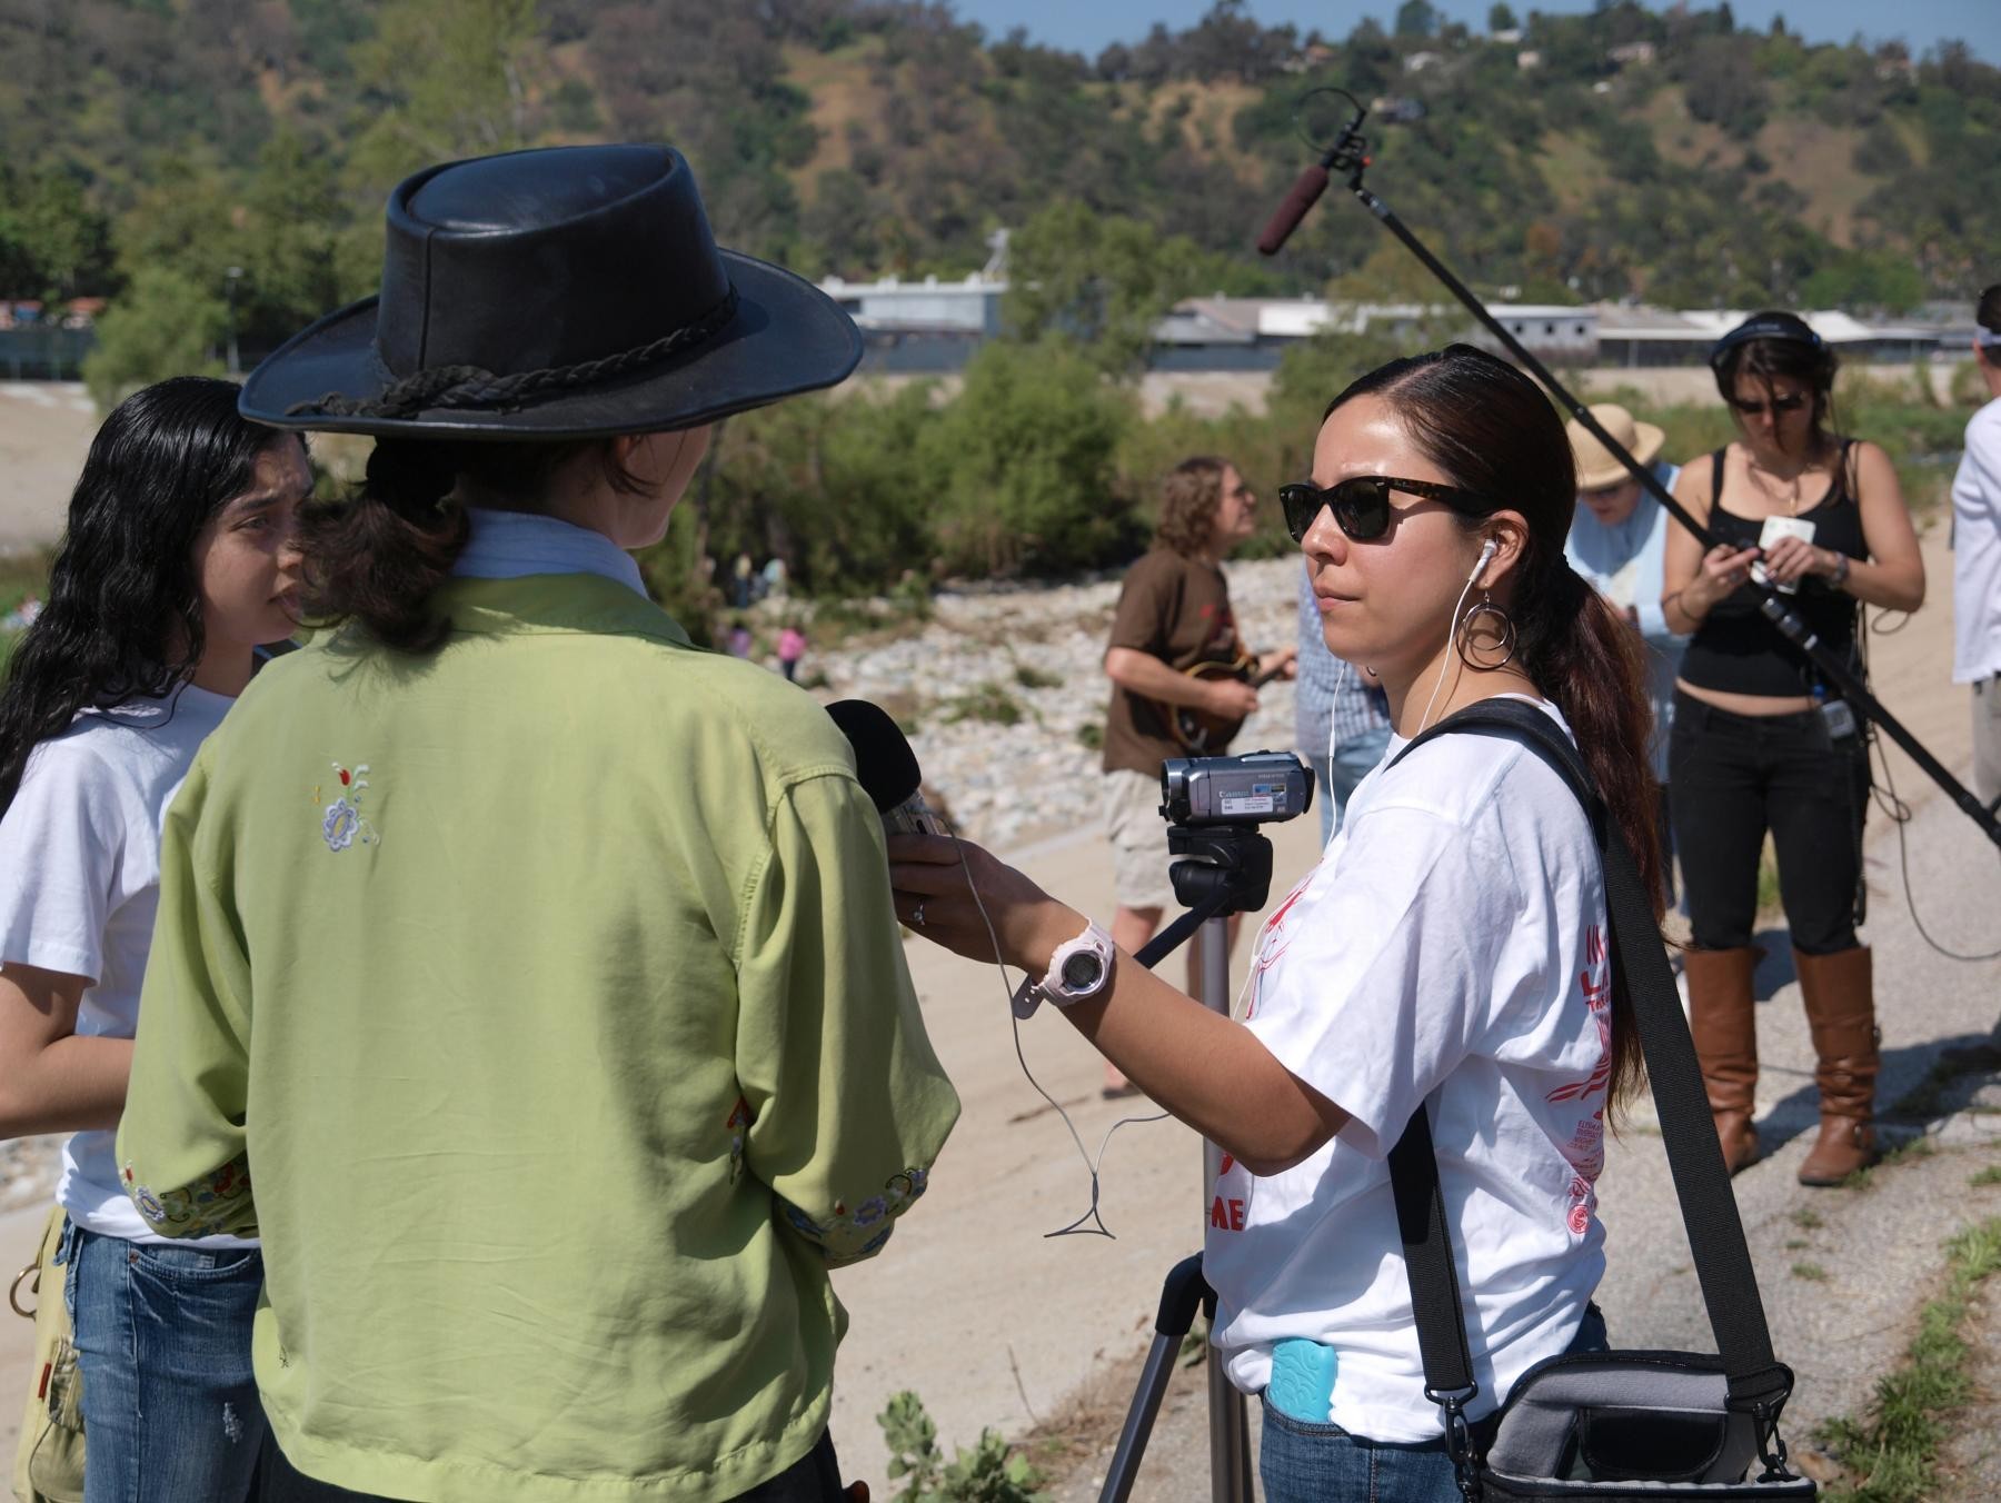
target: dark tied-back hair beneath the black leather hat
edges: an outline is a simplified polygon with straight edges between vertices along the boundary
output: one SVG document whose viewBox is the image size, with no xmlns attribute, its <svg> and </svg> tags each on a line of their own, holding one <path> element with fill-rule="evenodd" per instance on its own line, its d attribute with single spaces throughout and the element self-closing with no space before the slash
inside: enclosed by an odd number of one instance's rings
<svg viewBox="0 0 2001 1503">
<path fill-rule="evenodd" d="M 646 490 L 616 462 L 608 438 L 524 444 L 376 438 L 360 488 L 300 516 L 306 616 L 320 624 L 354 620 L 398 652 L 438 650 L 452 622 L 432 596 L 472 536 L 466 506 L 542 512 L 556 470 L 586 452 L 596 454 L 614 490 Z"/>
</svg>

